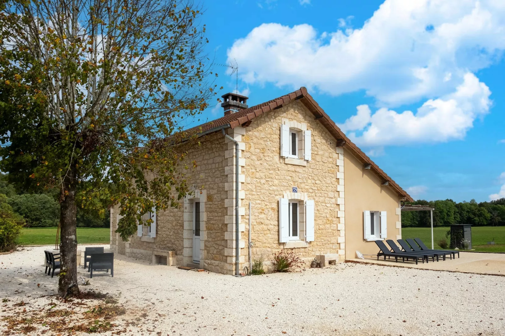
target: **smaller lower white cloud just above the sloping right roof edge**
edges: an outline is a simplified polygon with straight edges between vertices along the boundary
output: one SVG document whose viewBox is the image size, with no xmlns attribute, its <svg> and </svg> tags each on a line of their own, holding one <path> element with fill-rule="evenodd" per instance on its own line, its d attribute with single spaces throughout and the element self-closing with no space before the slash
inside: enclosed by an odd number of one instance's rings
<svg viewBox="0 0 505 336">
<path fill-rule="evenodd" d="M 427 100 L 416 113 L 380 108 L 372 114 L 368 105 L 360 105 L 357 114 L 339 126 L 363 146 L 463 139 L 474 120 L 488 113 L 490 94 L 484 83 L 467 73 L 455 92 Z"/>
</svg>

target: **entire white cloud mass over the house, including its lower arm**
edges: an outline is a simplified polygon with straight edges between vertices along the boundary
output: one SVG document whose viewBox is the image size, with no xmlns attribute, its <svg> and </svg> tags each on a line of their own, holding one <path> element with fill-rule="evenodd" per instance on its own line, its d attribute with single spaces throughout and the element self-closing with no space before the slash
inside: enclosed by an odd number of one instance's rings
<svg viewBox="0 0 505 336">
<path fill-rule="evenodd" d="M 335 18 L 333 32 L 265 23 L 228 58 L 246 83 L 365 90 L 383 108 L 360 105 L 342 126 L 362 145 L 461 139 L 488 113 L 491 92 L 474 73 L 505 50 L 505 1 L 386 0 L 363 27 L 347 20 Z M 410 103 L 422 106 L 391 109 Z"/>
</svg>

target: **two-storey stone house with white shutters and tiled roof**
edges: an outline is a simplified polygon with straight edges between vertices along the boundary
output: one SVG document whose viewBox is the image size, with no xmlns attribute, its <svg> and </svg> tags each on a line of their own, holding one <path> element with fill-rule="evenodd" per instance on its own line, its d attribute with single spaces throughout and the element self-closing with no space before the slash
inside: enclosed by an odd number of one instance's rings
<svg viewBox="0 0 505 336">
<path fill-rule="evenodd" d="M 245 96 L 223 98 L 222 118 L 189 130 L 200 144 L 180 145 L 198 164 L 194 195 L 179 208 L 154 209 L 153 225 L 139 226 L 128 242 L 114 233 L 111 208 L 114 252 L 237 274 L 250 267 L 249 253 L 268 261 L 289 249 L 306 263 L 318 255 L 338 261 L 401 237 L 400 201 L 412 198 L 305 87 L 252 107 Z"/>
</svg>

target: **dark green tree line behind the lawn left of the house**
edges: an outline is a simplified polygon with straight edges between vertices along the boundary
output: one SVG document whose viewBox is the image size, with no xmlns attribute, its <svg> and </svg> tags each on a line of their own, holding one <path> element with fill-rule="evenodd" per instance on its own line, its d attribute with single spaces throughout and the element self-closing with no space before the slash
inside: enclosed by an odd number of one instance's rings
<svg viewBox="0 0 505 336">
<path fill-rule="evenodd" d="M 12 211 L 25 219 L 27 228 L 57 227 L 60 221 L 60 203 L 56 197 L 58 192 L 48 190 L 41 194 L 27 193 L 8 182 L 8 176 L 0 173 L 0 194 L 6 196 L 6 203 Z M 110 212 L 102 214 L 77 207 L 77 227 L 79 228 L 109 228 Z"/>
</svg>

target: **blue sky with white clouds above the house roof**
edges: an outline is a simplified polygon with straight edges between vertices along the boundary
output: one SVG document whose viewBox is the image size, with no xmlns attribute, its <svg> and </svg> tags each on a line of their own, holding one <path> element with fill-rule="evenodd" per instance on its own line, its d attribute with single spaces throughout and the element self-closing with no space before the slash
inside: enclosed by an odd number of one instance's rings
<svg viewBox="0 0 505 336">
<path fill-rule="evenodd" d="M 207 1 L 216 64 L 249 106 L 306 86 L 416 199 L 505 197 L 505 4 Z M 221 94 L 235 77 L 216 66 Z M 410 112 L 411 111 L 411 112 Z M 209 108 L 203 118 L 222 115 Z"/>
</svg>

